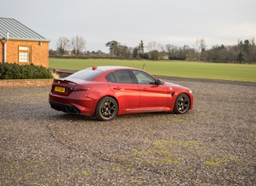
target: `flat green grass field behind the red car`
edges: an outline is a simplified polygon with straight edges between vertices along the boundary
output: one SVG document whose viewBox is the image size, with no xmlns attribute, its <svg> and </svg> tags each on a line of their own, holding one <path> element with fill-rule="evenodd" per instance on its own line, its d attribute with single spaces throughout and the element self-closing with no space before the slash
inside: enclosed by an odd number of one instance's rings
<svg viewBox="0 0 256 186">
<path fill-rule="evenodd" d="M 90 66 L 131 66 L 142 69 L 145 66 L 145 71 L 154 75 L 256 82 L 256 64 L 50 58 L 49 66 L 67 70 L 81 70 Z"/>
</svg>

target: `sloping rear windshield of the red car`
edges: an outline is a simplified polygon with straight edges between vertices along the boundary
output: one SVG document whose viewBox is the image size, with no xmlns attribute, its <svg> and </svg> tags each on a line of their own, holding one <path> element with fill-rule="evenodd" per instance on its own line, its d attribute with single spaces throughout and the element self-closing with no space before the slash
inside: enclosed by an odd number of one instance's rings
<svg viewBox="0 0 256 186">
<path fill-rule="evenodd" d="M 93 78 L 96 78 L 101 73 L 102 71 L 100 70 L 85 69 L 69 75 L 68 78 L 76 78 L 76 79 L 89 81 L 89 80 L 92 80 Z"/>
</svg>

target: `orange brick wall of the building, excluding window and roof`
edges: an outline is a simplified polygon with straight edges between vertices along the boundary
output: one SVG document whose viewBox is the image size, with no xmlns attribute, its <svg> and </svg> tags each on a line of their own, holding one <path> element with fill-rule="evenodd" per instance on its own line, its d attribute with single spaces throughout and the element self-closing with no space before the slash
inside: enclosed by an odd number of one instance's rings
<svg viewBox="0 0 256 186">
<path fill-rule="evenodd" d="M 3 62 L 3 44 L 4 40 L 0 42 L 0 62 Z M 39 45 L 38 41 L 19 41 L 8 40 L 7 41 L 7 62 L 18 63 L 19 65 L 30 64 L 24 62 L 18 62 L 19 57 L 19 45 L 31 47 L 31 62 L 35 66 L 44 66 L 49 68 L 49 42 L 42 42 Z"/>
</svg>

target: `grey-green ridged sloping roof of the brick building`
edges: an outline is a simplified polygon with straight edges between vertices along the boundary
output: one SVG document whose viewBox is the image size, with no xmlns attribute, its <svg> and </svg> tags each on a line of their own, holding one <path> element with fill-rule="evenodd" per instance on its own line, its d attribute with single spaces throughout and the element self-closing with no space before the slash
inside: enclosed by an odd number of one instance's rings
<svg viewBox="0 0 256 186">
<path fill-rule="evenodd" d="M 34 32 L 29 27 L 24 26 L 15 19 L 0 18 L 0 40 L 7 37 L 9 32 L 9 40 L 36 40 L 36 41 L 49 41 L 37 32 Z"/>
</svg>

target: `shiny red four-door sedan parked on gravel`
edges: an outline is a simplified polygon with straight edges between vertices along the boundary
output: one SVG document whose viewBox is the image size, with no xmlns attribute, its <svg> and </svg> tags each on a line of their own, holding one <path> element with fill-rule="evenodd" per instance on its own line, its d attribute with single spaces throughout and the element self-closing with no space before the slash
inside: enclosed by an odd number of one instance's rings
<svg viewBox="0 0 256 186">
<path fill-rule="evenodd" d="M 54 79 L 51 108 L 67 113 L 112 120 L 116 115 L 175 112 L 193 108 L 189 88 L 124 66 L 93 66 L 66 78 Z"/>
</svg>

